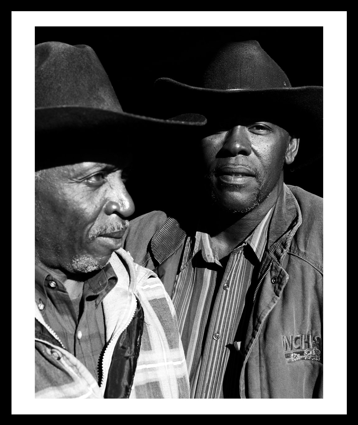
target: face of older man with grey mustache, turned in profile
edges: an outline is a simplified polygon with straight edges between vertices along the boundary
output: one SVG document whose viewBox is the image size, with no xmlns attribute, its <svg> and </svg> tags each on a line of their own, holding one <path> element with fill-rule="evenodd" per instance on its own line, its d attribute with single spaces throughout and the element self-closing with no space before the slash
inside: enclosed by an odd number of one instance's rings
<svg viewBox="0 0 358 425">
<path fill-rule="evenodd" d="M 44 170 L 35 182 L 37 263 L 65 273 L 102 269 L 134 212 L 123 167 L 95 162 Z"/>
</svg>

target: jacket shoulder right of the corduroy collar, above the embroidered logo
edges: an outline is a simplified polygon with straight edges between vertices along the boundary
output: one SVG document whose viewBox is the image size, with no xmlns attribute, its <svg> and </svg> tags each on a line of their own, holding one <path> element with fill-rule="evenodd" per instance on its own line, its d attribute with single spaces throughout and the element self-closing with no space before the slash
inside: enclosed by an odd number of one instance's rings
<svg viewBox="0 0 358 425">
<path fill-rule="evenodd" d="M 323 198 L 297 186 L 288 186 L 302 215 L 291 244 L 290 253 L 323 272 Z"/>
</svg>

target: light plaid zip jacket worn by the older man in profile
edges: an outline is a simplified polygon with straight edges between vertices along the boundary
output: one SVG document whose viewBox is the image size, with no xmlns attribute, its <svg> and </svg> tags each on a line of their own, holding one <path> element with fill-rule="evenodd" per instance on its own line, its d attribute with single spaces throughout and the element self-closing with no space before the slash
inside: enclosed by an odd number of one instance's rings
<svg viewBox="0 0 358 425">
<path fill-rule="evenodd" d="M 118 282 L 102 301 L 107 343 L 100 385 L 35 303 L 35 397 L 188 398 L 176 314 L 162 283 L 122 248 L 110 262 Z"/>
</svg>

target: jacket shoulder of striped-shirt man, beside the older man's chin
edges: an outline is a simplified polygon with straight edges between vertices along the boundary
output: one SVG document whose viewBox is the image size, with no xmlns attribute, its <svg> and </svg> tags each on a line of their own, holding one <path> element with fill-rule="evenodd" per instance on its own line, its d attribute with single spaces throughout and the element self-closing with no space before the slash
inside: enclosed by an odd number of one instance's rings
<svg viewBox="0 0 358 425">
<path fill-rule="evenodd" d="M 146 263 L 151 238 L 167 218 L 163 211 L 152 211 L 129 222 L 122 246 L 131 253 L 136 263 Z"/>
</svg>

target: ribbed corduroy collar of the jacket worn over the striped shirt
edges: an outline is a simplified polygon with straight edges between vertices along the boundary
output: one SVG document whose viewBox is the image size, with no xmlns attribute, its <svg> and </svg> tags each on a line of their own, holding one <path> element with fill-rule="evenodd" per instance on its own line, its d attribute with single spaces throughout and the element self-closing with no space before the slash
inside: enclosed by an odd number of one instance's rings
<svg viewBox="0 0 358 425">
<path fill-rule="evenodd" d="M 284 184 L 278 195 L 267 232 L 268 253 L 278 264 L 281 264 L 301 223 L 302 216 L 298 202 Z M 159 264 L 163 263 L 182 246 L 186 236 L 179 222 L 173 217 L 168 217 L 151 239 L 151 250 L 156 261 Z"/>
</svg>

